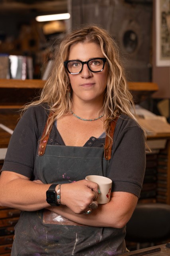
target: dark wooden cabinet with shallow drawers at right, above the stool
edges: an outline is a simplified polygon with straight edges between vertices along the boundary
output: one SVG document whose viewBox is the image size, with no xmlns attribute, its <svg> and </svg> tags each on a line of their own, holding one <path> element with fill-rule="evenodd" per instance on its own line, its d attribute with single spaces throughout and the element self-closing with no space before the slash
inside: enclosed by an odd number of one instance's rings
<svg viewBox="0 0 170 256">
<path fill-rule="evenodd" d="M 166 139 L 164 149 L 147 154 L 146 171 L 139 203 L 170 204 L 170 134 L 148 136 L 147 140 Z"/>
</svg>

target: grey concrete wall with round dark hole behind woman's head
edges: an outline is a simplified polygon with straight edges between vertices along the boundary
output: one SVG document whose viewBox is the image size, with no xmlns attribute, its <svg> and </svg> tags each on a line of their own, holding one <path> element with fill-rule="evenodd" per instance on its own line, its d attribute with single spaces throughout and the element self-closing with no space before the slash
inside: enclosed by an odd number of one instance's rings
<svg viewBox="0 0 170 256">
<path fill-rule="evenodd" d="M 118 42 L 129 81 L 150 82 L 152 1 L 70 0 L 71 27 L 102 25 Z"/>
</svg>

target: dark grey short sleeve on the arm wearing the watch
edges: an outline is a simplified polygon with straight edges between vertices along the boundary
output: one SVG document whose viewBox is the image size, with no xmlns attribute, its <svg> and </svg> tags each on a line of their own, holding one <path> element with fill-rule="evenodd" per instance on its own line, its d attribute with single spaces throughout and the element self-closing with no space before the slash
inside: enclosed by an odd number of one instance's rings
<svg viewBox="0 0 170 256">
<path fill-rule="evenodd" d="M 42 106 L 29 107 L 25 111 L 11 136 L 1 171 L 8 170 L 31 178 L 45 116 L 47 113 Z"/>
</svg>

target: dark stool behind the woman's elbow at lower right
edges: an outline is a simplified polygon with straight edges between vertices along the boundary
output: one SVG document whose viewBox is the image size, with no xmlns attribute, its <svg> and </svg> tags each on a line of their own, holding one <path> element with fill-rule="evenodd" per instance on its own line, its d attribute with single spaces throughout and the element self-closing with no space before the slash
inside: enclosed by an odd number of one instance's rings
<svg viewBox="0 0 170 256">
<path fill-rule="evenodd" d="M 150 243 L 170 239 L 170 205 L 168 204 L 137 204 L 133 215 L 126 225 L 125 240 Z"/>
</svg>

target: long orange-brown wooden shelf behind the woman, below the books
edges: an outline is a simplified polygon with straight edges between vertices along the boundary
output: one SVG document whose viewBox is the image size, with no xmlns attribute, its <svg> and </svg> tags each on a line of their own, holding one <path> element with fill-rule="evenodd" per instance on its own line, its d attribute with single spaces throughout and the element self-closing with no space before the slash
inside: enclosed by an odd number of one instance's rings
<svg viewBox="0 0 170 256">
<path fill-rule="evenodd" d="M 40 79 L 0 79 L 0 109 L 21 108 L 34 98 L 38 91 L 43 88 L 45 82 L 45 80 Z M 152 82 L 128 82 L 128 86 L 136 104 L 158 90 L 158 85 Z M 8 89 L 8 94 L 6 94 L 6 89 Z M 7 100 L 10 103 L 7 103 Z"/>
</svg>

